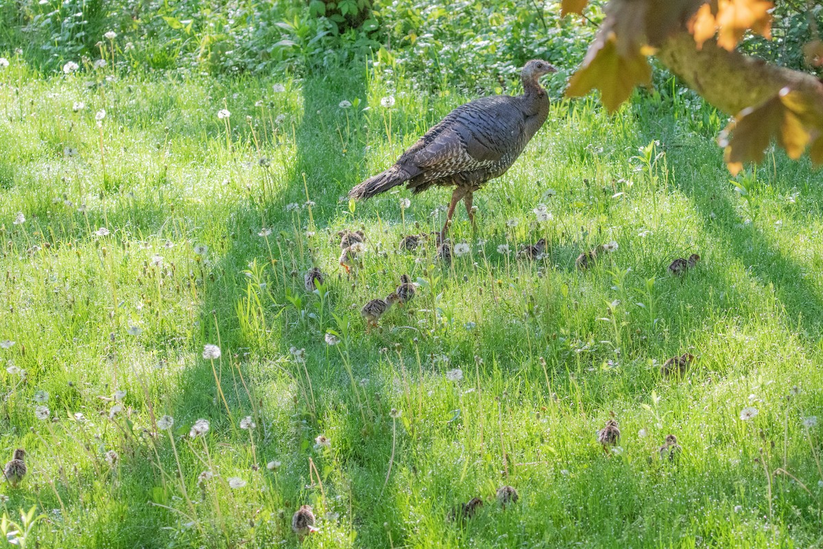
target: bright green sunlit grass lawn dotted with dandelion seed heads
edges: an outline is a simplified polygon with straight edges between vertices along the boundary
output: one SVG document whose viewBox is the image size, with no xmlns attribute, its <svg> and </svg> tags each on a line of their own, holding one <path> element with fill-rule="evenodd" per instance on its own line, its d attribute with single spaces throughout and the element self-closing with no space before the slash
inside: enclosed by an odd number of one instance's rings
<svg viewBox="0 0 823 549">
<path fill-rule="evenodd" d="M 823 402 L 823 177 L 806 160 L 770 155 L 744 196 L 714 143 L 723 119 L 692 95 L 638 94 L 614 117 L 556 100 L 477 193 L 476 234 L 459 211 L 452 238 L 471 251 L 444 267 L 432 243 L 395 250 L 439 229 L 445 191 L 404 212 L 407 191 L 353 210 L 342 197 L 470 98 L 383 67 L 103 76 L 17 59 L 0 72 L 0 340 L 15 342 L 0 359 L 26 370 L 0 370 L 0 449 L 26 448 L 30 466 L 2 507 L 44 515 L 29 547 L 296 547 L 307 503 L 320 528 L 307 547 L 823 543 L 821 427 L 802 423 Z M 539 203 L 551 221 L 535 221 Z M 346 279 L 335 236 L 360 226 L 364 265 Z M 540 237 L 534 263 L 497 251 Z M 666 276 L 691 253 L 694 271 Z M 322 297 L 303 289 L 312 265 Z M 416 299 L 365 334 L 360 305 L 402 273 L 421 281 Z M 206 344 L 221 347 L 213 364 Z M 685 379 L 661 378 L 685 351 L 699 356 Z M 36 419 L 38 391 L 53 421 Z M 759 414 L 742 421 L 745 407 Z M 611 412 L 622 452 L 606 456 Z M 211 429 L 193 439 L 198 418 Z M 668 433 L 674 464 L 650 458 Z M 520 495 L 505 510 L 504 484 Z M 473 496 L 486 505 L 450 522 Z"/>
</svg>

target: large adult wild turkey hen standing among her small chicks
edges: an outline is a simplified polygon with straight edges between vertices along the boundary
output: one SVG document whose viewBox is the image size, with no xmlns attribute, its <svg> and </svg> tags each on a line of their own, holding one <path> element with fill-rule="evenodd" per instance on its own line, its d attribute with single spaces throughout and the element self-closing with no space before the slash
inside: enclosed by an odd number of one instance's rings
<svg viewBox="0 0 823 549">
<path fill-rule="evenodd" d="M 371 198 L 404 183 L 415 194 L 435 185 L 453 186 L 456 188 L 446 224 L 440 231 L 441 240 L 461 199 L 473 224 L 473 193 L 489 179 L 509 170 L 526 143 L 546 122 L 549 98 L 539 79 L 550 72 L 557 69 L 532 59 L 521 73 L 523 95 L 495 95 L 460 105 L 404 152 L 391 168 L 352 188 L 349 197 Z"/>
</svg>

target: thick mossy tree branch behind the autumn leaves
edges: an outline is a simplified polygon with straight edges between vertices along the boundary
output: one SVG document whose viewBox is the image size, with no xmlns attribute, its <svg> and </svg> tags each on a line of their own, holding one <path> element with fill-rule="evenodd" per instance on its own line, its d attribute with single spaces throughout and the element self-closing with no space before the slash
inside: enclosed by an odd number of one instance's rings
<svg viewBox="0 0 823 549">
<path fill-rule="evenodd" d="M 811 74 L 727 51 L 714 40 L 697 49 L 694 37 L 686 31 L 663 41 L 656 56 L 687 86 L 728 114 L 760 105 L 784 87 L 811 94 L 823 105 L 823 83 Z"/>
</svg>

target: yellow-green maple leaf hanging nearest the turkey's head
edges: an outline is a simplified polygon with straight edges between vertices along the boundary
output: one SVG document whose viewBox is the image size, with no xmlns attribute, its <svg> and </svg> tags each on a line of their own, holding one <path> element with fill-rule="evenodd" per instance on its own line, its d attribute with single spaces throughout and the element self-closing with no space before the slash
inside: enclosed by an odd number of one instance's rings
<svg viewBox="0 0 823 549">
<path fill-rule="evenodd" d="M 571 77 L 566 97 L 582 97 L 593 89 L 600 90 L 603 105 L 610 113 L 620 107 L 637 84 L 651 84 L 652 69 L 643 54 L 617 52 L 616 36 L 593 44 L 583 64 Z"/>
</svg>

